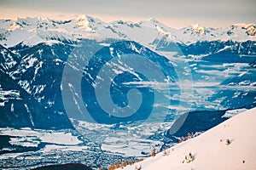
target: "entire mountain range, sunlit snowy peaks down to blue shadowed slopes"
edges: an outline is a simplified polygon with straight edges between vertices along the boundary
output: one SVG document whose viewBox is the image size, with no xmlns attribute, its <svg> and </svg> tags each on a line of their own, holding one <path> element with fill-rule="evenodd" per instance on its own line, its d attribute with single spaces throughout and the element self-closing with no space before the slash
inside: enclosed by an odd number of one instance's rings
<svg viewBox="0 0 256 170">
<path fill-rule="evenodd" d="M 68 113 L 78 118 L 76 114 L 85 109 L 94 112 L 92 118 L 96 122 L 119 122 L 115 116 L 108 118 L 108 111 L 102 111 L 91 93 L 96 89 L 96 79 L 102 78 L 98 71 L 111 59 L 119 63 L 110 64 L 110 70 L 120 73 L 117 83 L 111 85 L 115 105 L 128 105 L 126 95 L 130 88 L 147 93 L 143 98 L 146 103 L 139 110 L 143 118 L 131 116 L 121 122 L 146 120 L 151 111 L 164 114 L 152 119 L 172 122 L 183 112 L 255 105 L 253 24 L 228 28 L 192 25 L 177 30 L 154 19 L 107 23 L 80 15 L 72 20 L 0 20 L 0 26 L 2 127 L 72 128 Z M 94 70 L 84 67 L 84 54 L 92 53 L 93 48 L 98 49 L 89 65 Z M 157 65 L 164 72 L 163 80 L 173 83 L 171 90 L 166 92 L 165 84 L 148 80 L 132 68 L 124 70 L 126 60 L 118 60 L 124 54 L 139 54 Z M 63 71 L 67 66 L 69 82 L 65 84 Z M 82 85 L 73 77 L 79 74 Z M 151 99 L 153 88 L 169 94 L 156 102 Z M 86 121 L 86 117 L 80 118 Z"/>
</svg>

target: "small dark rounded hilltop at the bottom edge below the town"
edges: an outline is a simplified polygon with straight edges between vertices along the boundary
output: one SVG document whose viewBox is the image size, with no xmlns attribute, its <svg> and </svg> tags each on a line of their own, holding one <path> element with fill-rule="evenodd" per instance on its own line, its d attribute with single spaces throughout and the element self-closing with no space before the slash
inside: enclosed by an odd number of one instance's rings
<svg viewBox="0 0 256 170">
<path fill-rule="evenodd" d="M 34 170 L 92 170 L 80 163 L 67 163 L 63 165 L 49 165 L 45 167 L 37 167 Z"/>
</svg>

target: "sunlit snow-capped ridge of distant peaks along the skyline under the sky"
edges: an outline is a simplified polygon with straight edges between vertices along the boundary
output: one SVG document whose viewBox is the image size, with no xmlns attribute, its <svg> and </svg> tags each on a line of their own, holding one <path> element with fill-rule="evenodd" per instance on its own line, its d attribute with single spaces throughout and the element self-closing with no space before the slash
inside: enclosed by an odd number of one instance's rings
<svg viewBox="0 0 256 170">
<path fill-rule="evenodd" d="M 168 42 L 191 44 L 198 41 L 256 40 L 256 26 L 234 24 L 228 28 L 207 28 L 198 24 L 177 30 L 150 19 L 133 23 L 113 21 L 110 23 L 90 16 L 79 15 L 72 20 L 51 20 L 49 18 L 26 18 L 0 20 L 0 44 L 13 47 L 20 42 L 32 46 L 49 40 L 77 41 L 80 38 L 103 40 L 106 38 L 127 39 L 152 43 L 165 38 Z"/>
</svg>

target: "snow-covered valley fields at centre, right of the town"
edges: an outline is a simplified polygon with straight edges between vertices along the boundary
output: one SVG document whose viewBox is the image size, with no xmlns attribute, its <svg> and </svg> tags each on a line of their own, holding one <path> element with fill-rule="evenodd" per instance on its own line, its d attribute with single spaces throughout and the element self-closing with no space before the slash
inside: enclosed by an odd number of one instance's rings
<svg viewBox="0 0 256 170">
<path fill-rule="evenodd" d="M 124 156 L 144 156 L 142 153 L 149 153 L 153 147 L 160 149 L 162 142 L 148 139 L 148 136 L 163 133 L 170 127 L 170 122 L 132 122 L 120 124 L 113 130 L 115 125 L 78 122 L 76 129 L 84 136 L 90 136 L 90 141 L 101 144 L 102 150 Z"/>
</svg>

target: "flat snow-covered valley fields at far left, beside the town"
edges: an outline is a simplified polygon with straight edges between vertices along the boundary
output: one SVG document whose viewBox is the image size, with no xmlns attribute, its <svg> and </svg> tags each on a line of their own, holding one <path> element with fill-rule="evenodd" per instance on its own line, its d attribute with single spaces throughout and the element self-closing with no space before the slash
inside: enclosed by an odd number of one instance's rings
<svg viewBox="0 0 256 170">
<path fill-rule="evenodd" d="M 1 135 L 10 136 L 9 143 L 12 145 L 23 147 L 41 147 L 39 144 L 45 144 L 40 150 L 33 152 L 22 153 L 6 153 L 0 155 L 0 159 L 39 159 L 44 156 L 49 156 L 50 159 L 54 159 L 55 156 L 61 156 L 65 151 L 86 151 L 91 149 L 88 145 L 84 144 L 84 140 L 81 141 L 79 136 L 75 134 L 73 130 L 43 130 L 43 129 L 31 129 L 30 127 L 22 127 L 15 129 L 12 127 L 1 127 Z M 12 148 L 4 148 L 3 150 L 10 150 Z M 60 154 L 56 154 L 60 153 Z"/>
</svg>

